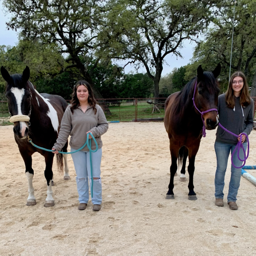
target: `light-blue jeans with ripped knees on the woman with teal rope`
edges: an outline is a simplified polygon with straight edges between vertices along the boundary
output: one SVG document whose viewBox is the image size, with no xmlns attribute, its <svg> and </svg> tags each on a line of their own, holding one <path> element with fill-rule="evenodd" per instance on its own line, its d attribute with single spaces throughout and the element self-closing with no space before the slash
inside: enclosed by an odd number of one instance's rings
<svg viewBox="0 0 256 256">
<path fill-rule="evenodd" d="M 71 148 L 71 152 L 75 151 Z M 90 153 L 85 151 L 78 151 L 71 154 L 75 170 L 76 170 L 76 184 L 78 191 L 79 203 L 87 204 L 89 201 L 89 185 L 92 186 L 91 177 L 91 164 L 90 164 Z M 92 166 L 93 166 L 93 177 L 97 178 L 93 180 L 93 204 L 101 204 L 102 201 L 102 186 L 100 178 L 100 162 L 102 156 L 102 149 L 99 148 L 97 152 L 92 153 Z"/>
</svg>

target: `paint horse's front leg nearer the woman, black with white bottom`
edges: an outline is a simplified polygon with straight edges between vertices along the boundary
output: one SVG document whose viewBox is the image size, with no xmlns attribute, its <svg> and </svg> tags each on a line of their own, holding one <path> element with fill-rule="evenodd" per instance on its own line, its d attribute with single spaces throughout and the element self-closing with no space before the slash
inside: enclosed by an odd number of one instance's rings
<svg viewBox="0 0 256 256">
<path fill-rule="evenodd" d="M 53 164 L 53 157 L 54 155 L 52 153 L 46 154 L 45 161 L 46 161 L 46 169 L 45 169 L 45 178 L 47 181 L 47 198 L 45 202 L 45 207 L 51 207 L 54 206 L 54 199 L 52 197 L 52 178 L 53 178 L 53 172 L 52 172 L 52 164 Z"/>
</svg>

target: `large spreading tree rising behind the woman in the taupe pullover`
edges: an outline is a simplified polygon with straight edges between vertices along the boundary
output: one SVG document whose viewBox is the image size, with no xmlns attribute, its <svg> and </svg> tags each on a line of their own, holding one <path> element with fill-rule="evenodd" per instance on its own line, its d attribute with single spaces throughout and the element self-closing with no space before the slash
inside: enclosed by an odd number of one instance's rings
<svg viewBox="0 0 256 256">
<path fill-rule="evenodd" d="M 102 17 L 105 4 L 100 0 L 4 0 L 5 9 L 12 15 L 8 28 L 20 30 L 19 36 L 43 44 L 58 45 L 61 53 L 71 65 L 66 70 L 76 68 L 80 77 L 92 84 L 97 98 L 102 98 L 94 87 L 92 72 L 101 56 L 95 51 L 104 48 L 97 41 L 97 34 L 104 25 Z M 88 66 L 94 59 L 94 67 Z"/>
</svg>

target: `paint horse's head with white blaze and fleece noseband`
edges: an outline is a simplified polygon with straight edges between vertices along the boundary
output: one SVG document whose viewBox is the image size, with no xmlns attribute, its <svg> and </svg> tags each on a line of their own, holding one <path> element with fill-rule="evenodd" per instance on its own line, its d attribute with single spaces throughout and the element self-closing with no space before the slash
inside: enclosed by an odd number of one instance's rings
<svg viewBox="0 0 256 256">
<path fill-rule="evenodd" d="M 31 113 L 31 91 L 28 83 L 29 67 L 25 68 L 22 75 L 10 75 L 2 66 L 1 74 L 7 81 L 6 97 L 11 115 L 10 122 L 13 122 L 13 132 L 16 138 L 25 139 L 28 136 L 28 122 Z"/>
</svg>

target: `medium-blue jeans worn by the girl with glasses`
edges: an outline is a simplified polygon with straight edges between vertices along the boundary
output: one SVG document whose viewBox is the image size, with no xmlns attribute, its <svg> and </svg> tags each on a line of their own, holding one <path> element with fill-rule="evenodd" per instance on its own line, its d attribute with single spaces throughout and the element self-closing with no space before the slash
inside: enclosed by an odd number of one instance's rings
<svg viewBox="0 0 256 256">
<path fill-rule="evenodd" d="M 243 143 L 244 149 L 246 151 L 247 142 Z M 215 153 L 217 157 L 217 169 L 215 174 L 215 198 L 217 199 L 223 199 L 223 188 L 225 185 L 224 179 L 225 179 L 225 173 L 227 169 L 227 161 L 228 157 L 231 151 L 231 154 L 234 151 L 234 148 L 236 145 L 228 144 L 228 143 L 221 143 L 221 142 L 215 142 L 214 148 Z M 243 164 L 242 161 L 238 159 L 237 151 L 234 153 L 233 156 L 233 163 L 236 166 L 241 166 Z M 240 159 L 244 159 L 244 152 L 242 148 L 240 148 Z M 231 164 L 231 178 L 229 182 L 229 188 L 228 188 L 228 195 L 227 195 L 227 202 L 236 202 L 237 201 L 237 194 L 238 189 L 240 186 L 240 180 L 241 180 L 241 168 L 235 168 Z"/>
</svg>

